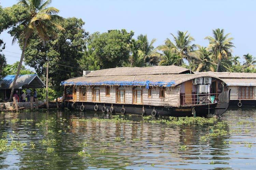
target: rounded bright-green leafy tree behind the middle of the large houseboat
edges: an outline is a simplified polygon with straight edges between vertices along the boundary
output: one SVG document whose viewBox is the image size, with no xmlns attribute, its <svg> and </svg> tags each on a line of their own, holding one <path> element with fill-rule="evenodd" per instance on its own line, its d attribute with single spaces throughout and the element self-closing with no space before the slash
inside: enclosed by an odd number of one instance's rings
<svg viewBox="0 0 256 170">
<path fill-rule="evenodd" d="M 128 60 L 127 45 L 131 41 L 133 32 L 126 30 L 109 30 L 100 34 L 95 32 L 87 38 L 87 51 L 83 61 L 88 65 L 86 58 L 92 56 L 97 64 L 94 67 L 114 68 L 122 67 Z"/>
</svg>

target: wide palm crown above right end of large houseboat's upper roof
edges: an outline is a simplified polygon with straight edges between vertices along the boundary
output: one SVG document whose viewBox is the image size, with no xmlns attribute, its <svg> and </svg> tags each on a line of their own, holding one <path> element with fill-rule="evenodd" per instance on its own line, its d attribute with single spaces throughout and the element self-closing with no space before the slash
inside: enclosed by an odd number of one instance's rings
<svg viewBox="0 0 256 170">
<path fill-rule="evenodd" d="M 185 58 L 188 62 L 201 61 L 197 53 L 194 52 L 196 48 L 195 44 L 191 44 L 194 38 L 186 35 L 187 31 L 184 33 L 182 31 L 177 32 L 177 37 L 171 34 L 174 38 L 174 43 L 167 38 L 165 40 L 165 45 L 159 46 L 158 49 L 163 51 L 170 50 L 171 53 L 179 55 L 181 58 Z"/>
</svg>

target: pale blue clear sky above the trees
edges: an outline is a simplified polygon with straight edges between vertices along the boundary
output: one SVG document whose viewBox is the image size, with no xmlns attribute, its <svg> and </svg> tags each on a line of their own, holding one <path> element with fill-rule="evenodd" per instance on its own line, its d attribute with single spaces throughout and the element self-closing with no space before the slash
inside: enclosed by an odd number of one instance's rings
<svg viewBox="0 0 256 170">
<path fill-rule="evenodd" d="M 17 0 L 0 0 L 4 7 L 16 4 Z M 149 41 L 157 40 L 154 47 L 164 44 L 166 38 L 173 40 L 177 31 L 188 31 L 195 41 L 193 44 L 207 47 L 206 36 L 219 28 L 232 40 L 235 48 L 232 55 L 251 54 L 256 57 L 256 1 L 255 0 L 52 0 L 50 6 L 60 10 L 59 15 L 68 18 L 81 18 L 86 32 L 93 34 L 108 30 L 125 29 L 133 31 L 133 38 L 147 35 Z M 18 44 L 12 45 L 7 31 L 0 34 L 6 43 L 7 64 L 20 60 Z"/>
</svg>

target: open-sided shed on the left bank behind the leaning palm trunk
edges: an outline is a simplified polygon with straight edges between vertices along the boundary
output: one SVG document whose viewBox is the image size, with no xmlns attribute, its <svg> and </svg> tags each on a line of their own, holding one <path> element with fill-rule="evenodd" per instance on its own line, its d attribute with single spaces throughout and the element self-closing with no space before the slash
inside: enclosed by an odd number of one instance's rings
<svg viewBox="0 0 256 170">
<path fill-rule="evenodd" d="M 13 81 L 14 81 L 15 75 L 7 75 L 3 78 L 2 81 L 0 81 L 0 93 L 3 100 L 9 99 Z M 35 88 L 43 88 L 45 87 L 45 84 L 43 81 L 38 77 L 37 74 L 26 74 L 26 75 L 18 75 L 18 78 L 16 80 L 15 84 L 15 92 L 21 95 L 22 89 L 35 89 Z M 19 96 L 18 95 L 18 96 Z"/>
</svg>

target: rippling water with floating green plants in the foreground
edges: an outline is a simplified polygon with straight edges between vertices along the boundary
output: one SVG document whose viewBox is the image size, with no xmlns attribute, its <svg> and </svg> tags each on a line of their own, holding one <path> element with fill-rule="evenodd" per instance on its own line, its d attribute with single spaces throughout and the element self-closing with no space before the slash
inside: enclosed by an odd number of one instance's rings
<svg viewBox="0 0 256 170">
<path fill-rule="evenodd" d="M 221 119 L 200 125 L 167 125 L 151 116 L 143 119 L 120 115 L 117 121 L 110 117 L 101 112 L 1 113 L 0 139 L 7 139 L 9 146 L 12 137 L 13 141 L 27 145 L 22 151 L 14 148 L 0 152 L 0 169 L 254 169 L 256 166 L 256 109 L 229 109 Z M 211 136 L 217 125 L 227 134 Z"/>
</svg>

